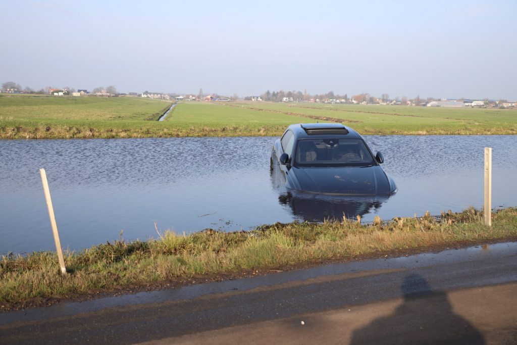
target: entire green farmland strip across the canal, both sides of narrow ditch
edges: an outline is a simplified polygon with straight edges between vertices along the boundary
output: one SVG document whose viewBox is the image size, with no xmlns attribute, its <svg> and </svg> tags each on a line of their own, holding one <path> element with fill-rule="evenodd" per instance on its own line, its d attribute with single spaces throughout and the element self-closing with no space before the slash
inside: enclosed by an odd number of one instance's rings
<svg viewBox="0 0 517 345">
<path fill-rule="evenodd" d="M 293 123 L 340 122 L 362 134 L 517 134 L 515 109 L 170 102 L 134 97 L 0 95 L 0 138 L 279 136 Z"/>
</svg>

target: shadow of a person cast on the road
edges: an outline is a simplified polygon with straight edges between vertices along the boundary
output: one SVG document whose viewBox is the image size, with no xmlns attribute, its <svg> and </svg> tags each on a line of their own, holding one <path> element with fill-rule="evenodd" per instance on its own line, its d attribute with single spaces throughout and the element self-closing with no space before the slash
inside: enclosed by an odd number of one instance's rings
<svg viewBox="0 0 517 345">
<path fill-rule="evenodd" d="M 387 317 L 357 329 L 351 344 L 484 344 L 483 335 L 455 314 L 443 291 L 418 274 L 402 284 L 404 303 Z"/>
</svg>

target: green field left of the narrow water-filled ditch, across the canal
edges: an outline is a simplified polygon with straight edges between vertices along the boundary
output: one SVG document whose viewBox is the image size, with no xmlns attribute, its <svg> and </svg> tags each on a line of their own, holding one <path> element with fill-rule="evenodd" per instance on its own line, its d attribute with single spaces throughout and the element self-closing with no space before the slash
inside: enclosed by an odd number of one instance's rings
<svg viewBox="0 0 517 345">
<path fill-rule="evenodd" d="M 1 96 L 0 138 L 159 136 L 171 103 L 136 97 Z"/>
</svg>

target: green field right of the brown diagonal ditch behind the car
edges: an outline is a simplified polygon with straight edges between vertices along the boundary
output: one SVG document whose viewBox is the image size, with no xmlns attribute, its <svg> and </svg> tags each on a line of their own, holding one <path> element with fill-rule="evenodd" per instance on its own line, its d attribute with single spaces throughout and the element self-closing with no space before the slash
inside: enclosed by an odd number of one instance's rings
<svg viewBox="0 0 517 345">
<path fill-rule="evenodd" d="M 517 110 L 360 106 L 323 103 L 248 103 L 262 112 L 310 116 L 353 127 L 363 134 L 517 134 Z"/>
</svg>

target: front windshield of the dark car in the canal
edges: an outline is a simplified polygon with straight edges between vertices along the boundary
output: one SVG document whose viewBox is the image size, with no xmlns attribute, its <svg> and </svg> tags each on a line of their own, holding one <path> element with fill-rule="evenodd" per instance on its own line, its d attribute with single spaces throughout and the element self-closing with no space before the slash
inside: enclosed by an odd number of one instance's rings
<svg viewBox="0 0 517 345">
<path fill-rule="evenodd" d="M 295 153 L 295 166 L 367 166 L 372 154 L 361 139 L 301 139 Z"/>
</svg>

